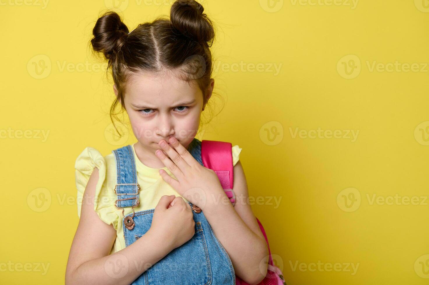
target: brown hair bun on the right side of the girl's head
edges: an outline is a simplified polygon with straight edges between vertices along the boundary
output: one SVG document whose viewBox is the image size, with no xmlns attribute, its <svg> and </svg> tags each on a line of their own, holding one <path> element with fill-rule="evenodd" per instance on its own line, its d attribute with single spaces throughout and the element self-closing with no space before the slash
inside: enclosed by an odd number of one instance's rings
<svg viewBox="0 0 429 285">
<path fill-rule="evenodd" d="M 213 24 L 204 12 L 204 7 L 195 0 L 177 0 L 170 10 L 173 27 L 196 42 L 213 42 L 215 31 Z"/>
</svg>

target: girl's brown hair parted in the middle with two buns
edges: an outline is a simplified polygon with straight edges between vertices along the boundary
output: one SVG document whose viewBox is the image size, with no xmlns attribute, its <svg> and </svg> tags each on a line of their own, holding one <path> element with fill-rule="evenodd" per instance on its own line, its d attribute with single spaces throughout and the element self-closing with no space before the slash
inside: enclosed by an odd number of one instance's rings
<svg viewBox="0 0 429 285">
<path fill-rule="evenodd" d="M 113 117 L 118 119 L 117 114 L 125 110 L 127 80 L 133 72 L 140 70 L 153 74 L 178 70 L 182 80 L 196 80 L 203 92 L 203 104 L 207 103 L 205 90 L 213 69 L 210 47 L 215 30 L 203 12 L 202 5 L 195 0 L 176 0 L 170 10 L 170 19 L 158 17 L 139 24 L 131 33 L 116 12 L 108 10 L 98 18 L 90 42 L 93 50 L 108 60 L 107 70 L 112 69 L 118 89 L 118 96 L 110 107 L 112 123 Z M 115 113 L 119 104 L 121 111 Z"/>
</svg>

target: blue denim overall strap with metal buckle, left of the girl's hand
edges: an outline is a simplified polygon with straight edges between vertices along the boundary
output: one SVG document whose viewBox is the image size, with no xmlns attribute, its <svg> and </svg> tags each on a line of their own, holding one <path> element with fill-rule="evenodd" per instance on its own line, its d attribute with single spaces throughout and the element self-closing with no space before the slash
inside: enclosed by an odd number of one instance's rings
<svg viewBox="0 0 429 285">
<path fill-rule="evenodd" d="M 114 192 L 118 195 L 118 199 L 115 202 L 115 206 L 117 209 L 122 208 L 122 216 L 124 216 L 124 207 L 132 207 L 134 214 L 134 207 L 139 205 L 140 186 L 137 182 L 133 149 L 131 145 L 127 145 L 112 152 L 115 154 L 117 174 Z M 133 216 L 131 216 L 130 222 L 132 222 Z"/>
</svg>

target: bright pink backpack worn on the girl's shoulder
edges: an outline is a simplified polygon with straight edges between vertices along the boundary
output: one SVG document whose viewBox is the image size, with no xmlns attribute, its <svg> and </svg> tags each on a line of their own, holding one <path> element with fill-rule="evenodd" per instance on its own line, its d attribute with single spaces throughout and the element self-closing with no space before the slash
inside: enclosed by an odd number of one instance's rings
<svg viewBox="0 0 429 285">
<path fill-rule="evenodd" d="M 222 188 L 230 198 L 230 202 L 235 204 L 235 196 L 232 191 L 234 185 L 234 176 L 233 176 L 233 155 L 232 155 L 232 144 L 224 141 L 201 141 L 201 159 L 205 167 L 212 169 L 216 172 L 221 182 Z M 265 230 L 259 221 L 256 218 L 259 228 L 262 231 L 262 234 L 265 237 L 268 252 L 269 252 L 269 261 L 268 261 L 268 271 L 266 277 L 260 282 L 260 285 L 286 285 L 284 281 L 283 274 L 281 270 L 276 267 L 272 261 L 271 252 L 269 249 L 268 238 L 266 236 Z M 236 285 L 248 285 L 238 276 L 236 276 Z"/>
</svg>

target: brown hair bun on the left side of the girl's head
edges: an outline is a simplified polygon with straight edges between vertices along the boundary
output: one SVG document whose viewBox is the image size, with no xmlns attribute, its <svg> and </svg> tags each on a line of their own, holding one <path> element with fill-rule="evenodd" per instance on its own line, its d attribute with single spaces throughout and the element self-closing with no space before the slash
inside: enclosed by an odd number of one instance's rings
<svg viewBox="0 0 429 285">
<path fill-rule="evenodd" d="M 92 34 L 94 38 L 91 39 L 91 44 L 94 50 L 102 52 L 109 59 L 124 45 L 128 28 L 116 12 L 108 11 L 98 18 Z"/>
</svg>

